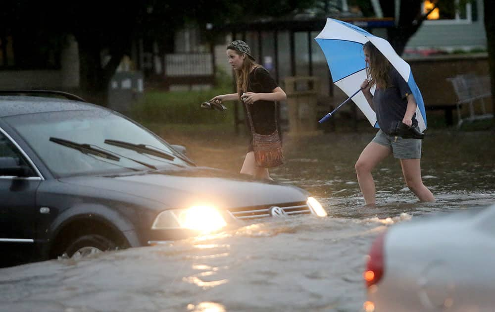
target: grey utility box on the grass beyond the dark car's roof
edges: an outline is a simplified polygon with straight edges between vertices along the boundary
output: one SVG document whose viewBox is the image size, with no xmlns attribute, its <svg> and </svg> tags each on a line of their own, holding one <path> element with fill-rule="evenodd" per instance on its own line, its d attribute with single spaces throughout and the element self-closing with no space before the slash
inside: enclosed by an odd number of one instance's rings
<svg viewBox="0 0 495 312">
<path fill-rule="evenodd" d="M 124 115 L 143 95 L 144 78 L 139 71 L 116 72 L 108 86 L 108 107 Z"/>
</svg>

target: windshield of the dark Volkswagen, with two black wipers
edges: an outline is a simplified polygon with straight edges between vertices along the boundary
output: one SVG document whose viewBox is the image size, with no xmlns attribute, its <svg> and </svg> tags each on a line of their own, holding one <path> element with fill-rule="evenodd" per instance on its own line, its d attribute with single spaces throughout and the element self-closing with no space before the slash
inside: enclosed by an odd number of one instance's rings
<svg viewBox="0 0 495 312">
<path fill-rule="evenodd" d="M 106 110 L 25 114 L 5 121 L 57 177 L 191 165 L 160 138 Z"/>
</svg>

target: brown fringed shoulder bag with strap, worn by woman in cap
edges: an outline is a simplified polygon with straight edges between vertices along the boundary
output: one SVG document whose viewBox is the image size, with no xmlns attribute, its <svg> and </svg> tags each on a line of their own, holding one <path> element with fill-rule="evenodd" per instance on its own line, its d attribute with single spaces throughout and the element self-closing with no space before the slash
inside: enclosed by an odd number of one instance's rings
<svg viewBox="0 0 495 312">
<path fill-rule="evenodd" d="M 284 163 L 284 153 L 282 150 L 282 141 L 277 130 L 277 115 L 275 113 L 275 131 L 271 134 L 263 135 L 254 131 L 249 104 L 246 104 L 247 117 L 251 125 L 252 145 L 254 158 L 258 167 L 272 168 Z M 277 111 L 275 107 L 275 111 Z"/>
</svg>

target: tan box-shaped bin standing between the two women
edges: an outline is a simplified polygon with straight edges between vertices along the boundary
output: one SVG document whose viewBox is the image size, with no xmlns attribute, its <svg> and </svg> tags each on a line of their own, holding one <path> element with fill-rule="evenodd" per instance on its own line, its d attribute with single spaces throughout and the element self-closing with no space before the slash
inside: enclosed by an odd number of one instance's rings
<svg viewBox="0 0 495 312">
<path fill-rule="evenodd" d="M 319 80 L 313 76 L 286 77 L 284 91 L 287 94 L 289 134 L 316 134 L 318 116 L 316 98 Z"/>
</svg>

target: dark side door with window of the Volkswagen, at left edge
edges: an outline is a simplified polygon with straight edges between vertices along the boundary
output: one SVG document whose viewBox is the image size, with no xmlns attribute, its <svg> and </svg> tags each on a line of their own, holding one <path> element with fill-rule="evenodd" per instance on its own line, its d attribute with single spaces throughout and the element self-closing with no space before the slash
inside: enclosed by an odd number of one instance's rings
<svg viewBox="0 0 495 312">
<path fill-rule="evenodd" d="M 17 144 L 0 129 L 0 266 L 27 262 L 34 256 L 36 189 L 41 176 Z M 24 165 L 25 176 L 9 175 L 7 166 Z M 31 171 L 31 172 L 29 172 Z"/>
</svg>

